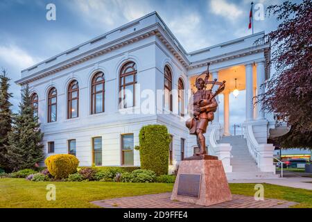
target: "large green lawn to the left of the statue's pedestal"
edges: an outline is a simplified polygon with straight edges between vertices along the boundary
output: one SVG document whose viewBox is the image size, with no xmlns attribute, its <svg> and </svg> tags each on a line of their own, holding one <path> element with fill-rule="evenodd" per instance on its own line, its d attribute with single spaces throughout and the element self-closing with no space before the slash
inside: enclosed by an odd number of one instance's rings
<svg viewBox="0 0 312 222">
<path fill-rule="evenodd" d="M 46 185 L 56 187 L 56 200 L 46 200 Z M 23 178 L 0 179 L 0 207 L 96 207 L 95 200 L 158 194 L 172 184 L 125 182 L 32 182 Z"/>
</svg>

